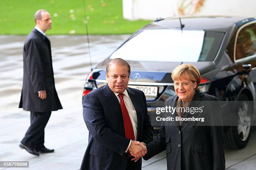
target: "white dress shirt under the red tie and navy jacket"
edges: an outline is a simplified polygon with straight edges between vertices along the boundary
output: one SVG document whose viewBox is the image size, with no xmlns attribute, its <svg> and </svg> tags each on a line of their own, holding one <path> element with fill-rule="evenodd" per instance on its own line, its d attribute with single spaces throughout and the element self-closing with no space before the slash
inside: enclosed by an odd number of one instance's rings
<svg viewBox="0 0 256 170">
<path fill-rule="evenodd" d="M 115 93 L 115 92 L 114 92 Z M 126 106 L 126 109 L 128 111 L 128 114 L 129 114 L 129 117 L 131 119 L 131 123 L 132 123 L 132 126 L 133 126 L 133 132 L 134 132 L 134 137 L 135 137 L 135 140 L 137 139 L 137 133 L 138 133 L 138 120 L 137 120 L 137 113 L 136 113 L 136 110 L 135 110 L 135 107 L 133 105 L 133 102 L 131 101 L 131 98 L 129 97 L 128 95 L 128 92 L 127 90 L 125 90 L 123 92 L 123 100 L 125 102 L 125 106 Z M 120 103 L 120 98 L 119 98 L 119 93 L 115 93 L 115 96 L 118 98 L 118 101 Z M 128 151 L 128 149 L 130 148 L 130 145 L 131 145 L 131 140 L 130 140 L 130 143 L 125 151 L 125 153 Z"/>
</svg>

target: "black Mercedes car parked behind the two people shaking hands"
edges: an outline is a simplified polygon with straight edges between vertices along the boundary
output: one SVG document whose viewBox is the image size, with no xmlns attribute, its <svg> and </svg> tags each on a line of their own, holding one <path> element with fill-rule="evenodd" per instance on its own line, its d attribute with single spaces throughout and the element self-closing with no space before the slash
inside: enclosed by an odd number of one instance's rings
<svg viewBox="0 0 256 170">
<path fill-rule="evenodd" d="M 106 84 L 106 65 L 119 57 L 131 65 L 128 86 L 145 93 L 150 116 L 159 101 L 175 95 L 172 70 L 182 63 L 195 65 L 202 76 L 201 92 L 218 97 L 220 103 L 243 101 L 238 104 L 240 119 L 236 125 L 224 126 L 224 134 L 228 148 L 247 145 L 256 117 L 256 18 L 156 20 L 131 35 L 87 75 L 83 96 Z M 223 121 L 229 118 L 222 114 Z"/>
</svg>

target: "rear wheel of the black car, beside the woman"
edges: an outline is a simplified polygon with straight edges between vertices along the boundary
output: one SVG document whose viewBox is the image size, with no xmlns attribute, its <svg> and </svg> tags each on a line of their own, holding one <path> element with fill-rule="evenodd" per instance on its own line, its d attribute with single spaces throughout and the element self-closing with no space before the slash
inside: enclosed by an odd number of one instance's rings
<svg viewBox="0 0 256 170">
<path fill-rule="evenodd" d="M 248 101 L 248 97 L 241 93 L 238 97 L 238 125 L 230 126 L 225 131 L 225 143 L 226 148 L 241 149 L 244 148 L 250 139 L 251 135 L 251 106 Z"/>
</svg>

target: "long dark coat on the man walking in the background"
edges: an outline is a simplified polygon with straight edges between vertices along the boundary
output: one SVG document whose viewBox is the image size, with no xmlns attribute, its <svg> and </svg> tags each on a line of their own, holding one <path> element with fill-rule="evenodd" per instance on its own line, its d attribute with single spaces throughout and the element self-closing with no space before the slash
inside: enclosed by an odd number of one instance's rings
<svg viewBox="0 0 256 170">
<path fill-rule="evenodd" d="M 45 100 L 38 97 L 41 90 L 46 90 Z M 32 112 L 62 109 L 54 85 L 51 44 L 36 29 L 27 36 L 23 47 L 23 87 L 19 107 Z"/>
</svg>

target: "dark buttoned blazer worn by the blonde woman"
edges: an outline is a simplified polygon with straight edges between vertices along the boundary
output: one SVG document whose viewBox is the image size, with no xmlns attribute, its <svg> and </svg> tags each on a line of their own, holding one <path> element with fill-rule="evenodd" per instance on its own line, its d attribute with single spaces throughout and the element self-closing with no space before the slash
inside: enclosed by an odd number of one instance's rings
<svg viewBox="0 0 256 170">
<path fill-rule="evenodd" d="M 169 97 L 165 105 L 176 107 L 178 96 Z M 189 107 L 202 107 L 211 101 L 210 107 L 204 107 L 199 117 L 208 117 L 221 125 L 220 105 L 217 97 L 196 92 Z M 191 116 L 187 113 L 185 117 Z M 177 116 L 177 113 L 175 113 Z M 222 126 L 198 126 L 182 122 L 162 122 L 160 134 L 148 143 L 145 160 L 166 150 L 168 170 L 225 170 L 224 138 Z M 207 122 L 209 123 L 209 122 Z"/>
</svg>

